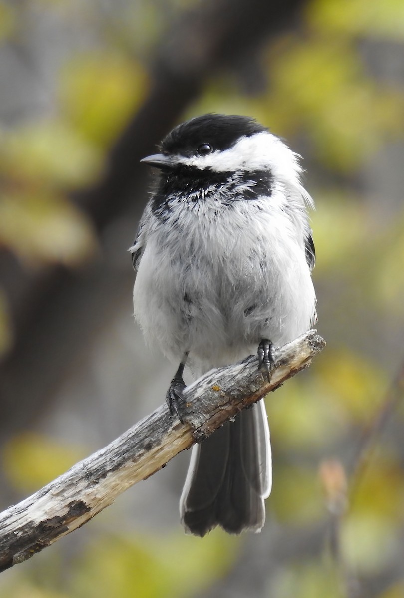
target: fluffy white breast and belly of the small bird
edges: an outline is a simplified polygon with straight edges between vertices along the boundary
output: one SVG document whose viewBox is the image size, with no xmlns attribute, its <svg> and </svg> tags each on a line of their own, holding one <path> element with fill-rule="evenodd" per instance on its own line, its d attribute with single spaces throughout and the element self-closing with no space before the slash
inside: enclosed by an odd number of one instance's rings
<svg viewBox="0 0 404 598">
<path fill-rule="evenodd" d="M 290 218 L 284 203 L 281 190 L 230 208 L 206 198 L 154 221 L 133 292 L 145 338 L 206 368 L 305 332 L 315 317 L 305 214 Z"/>
</svg>

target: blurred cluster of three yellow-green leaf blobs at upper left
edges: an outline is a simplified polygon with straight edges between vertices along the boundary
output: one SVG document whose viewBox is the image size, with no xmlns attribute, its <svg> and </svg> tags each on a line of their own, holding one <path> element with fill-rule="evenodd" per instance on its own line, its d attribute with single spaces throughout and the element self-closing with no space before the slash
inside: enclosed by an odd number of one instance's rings
<svg viewBox="0 0 404 598">
<path fill-rule="evenodd" d="M 59 115 L 1 132 L 0 244 L 31 264 L 77 266 L 95 256 L 92 225 L 66 191 L 101 175 L 105 150 L 147 89 L 128 56 L 72 56 L 60 74 Z"/>
</svg>

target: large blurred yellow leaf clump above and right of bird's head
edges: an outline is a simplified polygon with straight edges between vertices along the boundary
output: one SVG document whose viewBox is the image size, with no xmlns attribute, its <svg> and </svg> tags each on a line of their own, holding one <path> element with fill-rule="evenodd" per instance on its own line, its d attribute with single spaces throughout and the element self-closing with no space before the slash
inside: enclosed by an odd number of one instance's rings
<svg viewBox="0 0 404 598">
<path fill-rule="evenodd" d="M 306 131 L 314 157 L 328 167 L 350 172 L 387 136 L 402 133 L 402 94 L 367 77 L 350 39 L 322 32 L 294 39 L 280 56 L 272 51 L 269 63 L 272 118 L 286 135 Z"/>
</svg>

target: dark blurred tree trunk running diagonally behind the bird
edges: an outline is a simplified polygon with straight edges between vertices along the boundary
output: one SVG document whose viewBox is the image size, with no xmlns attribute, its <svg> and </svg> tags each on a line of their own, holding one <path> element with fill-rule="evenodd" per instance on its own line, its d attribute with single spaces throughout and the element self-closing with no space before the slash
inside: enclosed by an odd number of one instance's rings
<svg viewBox="0 0 404 598">
<path fill-rule="evenodd" d="M 145 203 L 145 172 L 139 159 L 180 118 L 203 84 L 223 69 L 245 69 L 246 60 L 282 29 L 291 28 L 303 0 L 203 2 L 174 23 L 156 49 L 151 91 L 111 149 L 99 184 L 73 199 L 105 236 L 117 217 L 133 221 Z M 131 238 L 123 240 L 128 246 Z M 123 257 L 124 255 L 123 249 Z M 40 415 L 63 378 L 83 362 L 96 333 L 124 302 L 130 310 L 132 271 L 111 260 L 84 271 L 23 270 L 12 255 L 0 257 L 0 277 L 13 310 L 14 349 L 0 368 L 2 438 Z"/>
</svg>

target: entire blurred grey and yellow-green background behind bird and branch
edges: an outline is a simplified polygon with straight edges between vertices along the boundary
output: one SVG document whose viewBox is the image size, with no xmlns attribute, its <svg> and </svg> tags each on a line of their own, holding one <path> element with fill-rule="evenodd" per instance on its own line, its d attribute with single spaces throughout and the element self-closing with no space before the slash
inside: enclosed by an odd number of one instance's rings
<svg viewBox="0 0 404 598">
<path fill-rule="evenodd" d="M 404 596 L 404 4 L 0 0 L 0 81 L 1 509 L 163 403 L 127 248 L 139 160 L 185 118 L 251 115 L 304 157 L 327 341 L 266 401 L 260 535 L 184 535 L 180 454 L 0 596 Z"/>
</svg>

